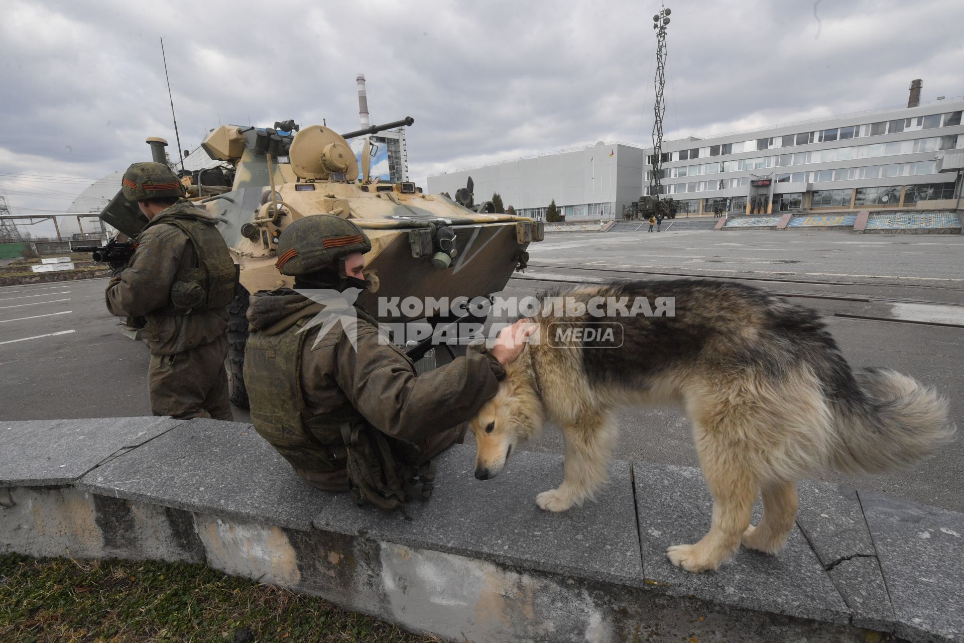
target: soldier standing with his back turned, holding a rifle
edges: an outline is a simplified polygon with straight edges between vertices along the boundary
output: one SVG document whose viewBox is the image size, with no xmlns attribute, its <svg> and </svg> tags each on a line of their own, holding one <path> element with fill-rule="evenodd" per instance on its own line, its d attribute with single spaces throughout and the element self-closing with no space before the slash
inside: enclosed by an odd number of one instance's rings
<svg viewBox="0 0 964 643">
<path fill-rule="evenodd" d="M 227 307 L 237 271 L 219 219 L 181 199 L 183 186 L 162 163 L 133 164 L 121 190 L 137 201 L 147 226 L 127 264 L 113 266 L 107 309 L 145 320 L 150 410 L 231 419 Z"/>
</svg>

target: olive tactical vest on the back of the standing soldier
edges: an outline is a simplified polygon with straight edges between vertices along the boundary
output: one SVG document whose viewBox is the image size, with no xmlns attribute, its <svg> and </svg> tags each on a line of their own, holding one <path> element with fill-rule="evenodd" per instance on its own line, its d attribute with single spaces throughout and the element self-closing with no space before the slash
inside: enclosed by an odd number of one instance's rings
<svg viewBox="0 0 964 643">
<path fill-rule="evenodd" d="M 196 217 L 176 211 L 162 212 L 151 225 L 157 223 L 178 228 L 190 240 L 171 286 L 171 304 L 157 312 L 176 317 L 228 307 L 234 299 L 237 268 L 221 233 Z"/>
</svg>

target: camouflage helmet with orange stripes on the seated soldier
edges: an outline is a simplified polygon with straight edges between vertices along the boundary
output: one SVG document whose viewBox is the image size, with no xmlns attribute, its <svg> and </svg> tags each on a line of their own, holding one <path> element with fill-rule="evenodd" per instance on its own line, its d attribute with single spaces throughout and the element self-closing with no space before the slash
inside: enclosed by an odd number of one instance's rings
<svg viewBox="0 0 964 643">
<path fill-rule="evenodd" d="M 281 231 L 275 266 L 282 275 L 298 277 L 369 250 L 371 242 L 362 228 L 332 214 L 319 214 L 298 219 Z"/>
</svg>

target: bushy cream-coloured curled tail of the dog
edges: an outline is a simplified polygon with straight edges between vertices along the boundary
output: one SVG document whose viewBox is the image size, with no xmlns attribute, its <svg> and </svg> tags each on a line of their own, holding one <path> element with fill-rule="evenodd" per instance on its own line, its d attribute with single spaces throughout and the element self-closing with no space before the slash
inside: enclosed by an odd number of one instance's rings
<svg viewBox="0 0 964 643">
<path fill-rule="evenodd" d="M 914 378 L 885 368 L 854 373 L 864 399 L 835 405 L 835 468 L 847 473 L 905 469 L 953 440 L 948 400 Z"/>
</svg>

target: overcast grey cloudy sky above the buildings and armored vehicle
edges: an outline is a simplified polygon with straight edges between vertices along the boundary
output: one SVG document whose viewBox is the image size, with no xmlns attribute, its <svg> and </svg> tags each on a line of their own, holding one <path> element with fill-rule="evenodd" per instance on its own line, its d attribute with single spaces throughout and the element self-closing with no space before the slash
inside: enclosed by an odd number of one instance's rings
<svg viewBox="0 0 964 643">
<path fill-rule="evenodd" d="M 964 3 L 679 2 L 667 138 L 964 94 Z M 167 9 L 165 10 L 165 7 Z M 219 122 L 415 118 L 410 174 L 618 140 L 647 144 L 656 38 L 647 0 L 42 2 L 0 7 L 0 194 L 63 211 L 168 139 L 164 37 L 182 147 Z M 815 15 L 816 13 L 816 15 Z"/>
</svg>

